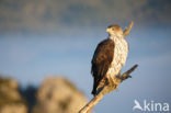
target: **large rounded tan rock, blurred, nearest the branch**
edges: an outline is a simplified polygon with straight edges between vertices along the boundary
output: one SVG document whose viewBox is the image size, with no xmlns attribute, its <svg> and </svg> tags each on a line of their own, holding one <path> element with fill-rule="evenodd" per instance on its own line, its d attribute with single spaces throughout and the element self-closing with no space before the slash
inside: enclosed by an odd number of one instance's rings
<svg viewBox="0 0 171 113">
<path fill-rule="evenodd" d="M 77 113 L 87 103 L 83 94 L 65 78 L 50 77 L 37 91 L 33 113 Z"/>
</svg>

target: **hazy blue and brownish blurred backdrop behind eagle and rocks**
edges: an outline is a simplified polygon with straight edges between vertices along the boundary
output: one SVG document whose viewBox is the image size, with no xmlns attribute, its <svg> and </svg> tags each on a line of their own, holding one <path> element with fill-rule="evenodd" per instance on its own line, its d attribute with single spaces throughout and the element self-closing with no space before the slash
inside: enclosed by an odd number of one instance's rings
<svg viewBox="0 0 171 113">
<path fill-rule="evenodd" d="M 91 58 L 105 29 L 135 25 L 126 37 L 133 78 L 107 94 L 96 113 L 132 112 L 134 100 L 171 103 L 171 15 L 169 0 L 0 1 L 0 74 L 22 86 L 39 86 L 50 75 L 70 79 L 88 99 Z"/>
</svg>

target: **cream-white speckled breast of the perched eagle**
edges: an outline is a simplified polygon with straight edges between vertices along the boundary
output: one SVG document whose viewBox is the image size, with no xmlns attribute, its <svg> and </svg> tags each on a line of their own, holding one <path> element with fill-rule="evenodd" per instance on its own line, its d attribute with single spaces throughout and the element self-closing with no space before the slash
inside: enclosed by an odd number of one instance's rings
<svg viewBox="0 0 171 113">
<path fill-rule="evenodd" d="M 128 53 L 128 44 L 126 39 L 123 37 L 110 37 L 114 41 L 115 47 L 114 47 L 114 57 L 113 61 L 107 70 L 107 76 L 116 76 L 121 71 L 122 67 L 126 63 L 127 53 Z"/>
</svg>

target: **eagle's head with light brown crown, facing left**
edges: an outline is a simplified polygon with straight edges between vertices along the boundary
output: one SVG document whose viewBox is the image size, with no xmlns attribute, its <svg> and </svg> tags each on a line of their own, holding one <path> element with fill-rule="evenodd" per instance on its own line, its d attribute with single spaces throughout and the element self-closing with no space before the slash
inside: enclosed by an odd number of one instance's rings
<svg viewBox="0 0 171 113">
<path fill-rule="evenodd" d="M 111 36 L 116 36 L 116 37 L 123 37 L 123 30 L 121 26 L 116 25 L 116 24 L 112 24 L 106 29 L 106 32 L 111 35 Z"/>
</svg>

